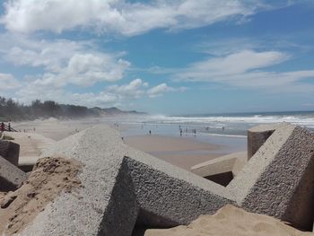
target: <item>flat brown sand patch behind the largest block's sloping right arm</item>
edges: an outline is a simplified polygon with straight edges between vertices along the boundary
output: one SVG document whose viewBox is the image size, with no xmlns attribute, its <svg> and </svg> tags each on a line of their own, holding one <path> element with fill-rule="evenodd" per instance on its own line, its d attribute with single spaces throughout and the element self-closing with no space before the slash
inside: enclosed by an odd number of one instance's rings
<svg viewBox="0 0 314 236">
<path fill-rule="evenodd" d="M 219 145 L 196 141 L 193 137 L 170 137 L 162 135 L 141 135 L 125 137 L 126 144 L 145 153 L 151 153 L 166 162 L 190 170 L 192 166 L 212 160 L 222 153 Z"/>
</svg>

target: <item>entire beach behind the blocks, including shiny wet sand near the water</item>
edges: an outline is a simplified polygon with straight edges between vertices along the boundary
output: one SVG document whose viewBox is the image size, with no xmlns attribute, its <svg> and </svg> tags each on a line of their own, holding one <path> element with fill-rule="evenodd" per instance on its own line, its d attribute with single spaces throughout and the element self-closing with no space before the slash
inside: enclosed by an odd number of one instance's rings
<svg viewBox="0 0 314 236">
<path fill-rule="evenodd" d="M 245 148 L 244 141 L 239 137 L 209 137 L 198 134 L 196 136 L 191 134 L 180 136 L 177 125 L 145 124 L 143 126 L 123 122 L 123 119 L 119 120 L 119 123 L 100 118 L 76 120 L 48 118 L 13 122 L 13 127 L 21 130 L 21 133 L 12 134 L 16 138 L 15 142 L 22 145 L 21 162 L 28 162 L 30 158 L 36 160 L 39 157 L 42 150 L 40 146 L 44 147 L 46 143 L 53 143 L 100 123 L 109 124 L 118 129 L 124 136 L 126 144 L 186 170 L 190 170 L 197 163 Z M 153 131 L 153 135 L 146 135 L 149 130 Z M 24 131 L 25 135 L 22 135 Z M 237 140 L 239 139 L 240 144 L 238 145 Z"/>
</svg>

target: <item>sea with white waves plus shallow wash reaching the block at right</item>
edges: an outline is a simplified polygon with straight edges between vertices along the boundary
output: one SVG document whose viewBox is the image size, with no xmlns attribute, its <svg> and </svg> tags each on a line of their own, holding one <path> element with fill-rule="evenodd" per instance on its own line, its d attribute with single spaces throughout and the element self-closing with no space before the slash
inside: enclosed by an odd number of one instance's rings
<svg viewBox="0 0 314 236">
<path fill-rule="evenodd" d="M 110 118 L 107 118 L 110 119 Z M 247 130 L 261 124 L 289 122 L 314 131 L 314 111 L 250 112 L 186 116 L 145 115 L 111 118 L 128 128 L 123 135 L 190 137 L 224 146 L 224 153 L 246 150 Z"/>
</svg>

